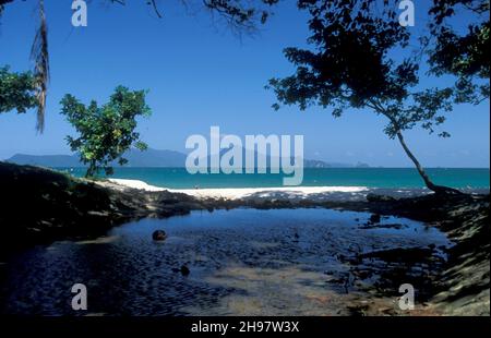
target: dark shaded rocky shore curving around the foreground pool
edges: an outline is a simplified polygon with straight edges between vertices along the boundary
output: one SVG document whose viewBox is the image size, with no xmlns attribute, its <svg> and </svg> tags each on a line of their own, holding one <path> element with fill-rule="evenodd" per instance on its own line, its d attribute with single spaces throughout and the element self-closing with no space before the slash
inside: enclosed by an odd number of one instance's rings
<svg viewBox="0 0 491 338">
<path fill-rule="evenodd" d="M 416 197 L 368 194 L 364 198 L 195 197 L 181 192 L 131 189 L 29 166 L 0 162 L 2 194 L 0 257 L 36 244 L 87 239 L 145 217 L 165 218 L 196 209 L 324 207 L 394 215 L 439 227 L 456 243 L 434 281 L 429 312 L 489 315 L 490 197 Z"/>
</svg>

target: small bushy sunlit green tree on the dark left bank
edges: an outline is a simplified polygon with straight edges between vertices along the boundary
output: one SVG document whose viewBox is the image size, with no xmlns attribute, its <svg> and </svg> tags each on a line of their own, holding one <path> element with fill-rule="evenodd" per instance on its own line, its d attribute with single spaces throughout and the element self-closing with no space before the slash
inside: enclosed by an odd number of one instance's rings
<svg viewBox="0 0 491 338">
<path fill-rule="evenodd" d="M 79 133 L 79 137 L 68 136 L 67 141 L 80 154 L 81 161 L 88 165 L 86 177 L 96 176 L 100 169 L 112 174 L 111 162 L 117 160 L 121 166 L 128 162 L 122 157 L 125 150 L 132 146 L 140 150 L 147 148 L 134 131 L 136 118 L 151 114 L 145 94 L 145 90 L 131 92 L 119 86 L 109 102 L 100 107 L 95 100 L 85 106 L 72 95 L 63 97 L 61 113 Z"/>
</svg>

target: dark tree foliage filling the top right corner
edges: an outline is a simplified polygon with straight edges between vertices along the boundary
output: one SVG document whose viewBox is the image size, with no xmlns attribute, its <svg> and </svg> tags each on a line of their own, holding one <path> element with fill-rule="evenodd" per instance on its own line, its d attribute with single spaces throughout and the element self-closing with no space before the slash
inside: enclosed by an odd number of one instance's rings
<svg viewBox="0 0 491 338">
<path fill-rule="evenodd" d="M 458 101 L 476 104 L 490 96 L 489 10 L 489 0 L 433 0 L 430 9 L 430 32 L 435 39 L 429 58 L 431 72 L 456 76 Z M 464 29 L 452 24 L 459 12 L 471 19 Z"/>
</svg>

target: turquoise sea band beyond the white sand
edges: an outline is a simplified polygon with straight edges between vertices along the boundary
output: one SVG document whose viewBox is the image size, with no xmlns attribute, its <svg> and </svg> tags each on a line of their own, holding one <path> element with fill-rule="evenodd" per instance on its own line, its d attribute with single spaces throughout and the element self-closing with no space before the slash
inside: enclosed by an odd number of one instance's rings
<svg viewBox="0 0 491 338">
<path fill-rule="evenodd" d="M 76 177 L 84 168 L 57 168 Z M 453 188 L 489 189 L 489 169 L 430 168 L 428 174 L 438 184 Z M 169 189 L 193 188 L 275 188 L 283 185 L 283 174 L 190 174 L 185 168 L 115 168 L 112 178 L 141 180 Z M 306 168 L 304 186 L 423 188 L 412 168 Z"/>
</svg>

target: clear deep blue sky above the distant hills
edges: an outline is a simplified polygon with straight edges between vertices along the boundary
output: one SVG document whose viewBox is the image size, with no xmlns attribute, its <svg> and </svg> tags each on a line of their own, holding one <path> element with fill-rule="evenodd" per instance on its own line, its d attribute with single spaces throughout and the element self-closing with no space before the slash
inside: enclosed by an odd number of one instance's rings
<svg viewBox="0 0 491 338">
<path fill-rule="evenodd" d="M 163 2 L 164 19 L 144 1 L 129 1 L 127 7 L 93 1 L 88 26 L 80 28 L 71 25 L 71 1 L 45 2 L 51 58 L 46 130 L 35 132 L 34 111 L 0 114 L 0 159 L 16 153 L 69 154 L 64 137 L 74 132 L 59 113 L 61 97 L 71 93 L 85 102 L 104 102 L 122 84 L 151 90 L 153 116 L 141 120 L 139 130 L 153 148 L 183 152 L 189 135 L 208 135 L 211 125 L 219 125 L 223 133 L 240 136 L 303 134 L 310 159 L 411 166 L 400 145 L 383 134 L 384 119 L 369 110 L 334 119 L 320 108 L 271 108 L 275 97 L 264 85 L 294 70 L 282 50 L 304 46 L 309 34 L 304 13 L 292 1 L 278 7 L 256 36 L 243 38 L 206 12 L 187 11 L 180 1 Z M 32 67 L 34 3 L 8 5 L 1 20 L 0 64 L 15 71 Z M 489 101 L 456 107 L 445 130 L 451 138 L 420 130 L 407 133 L 407 143 L 424 166 L 489 167 Z"/>
</svg>

